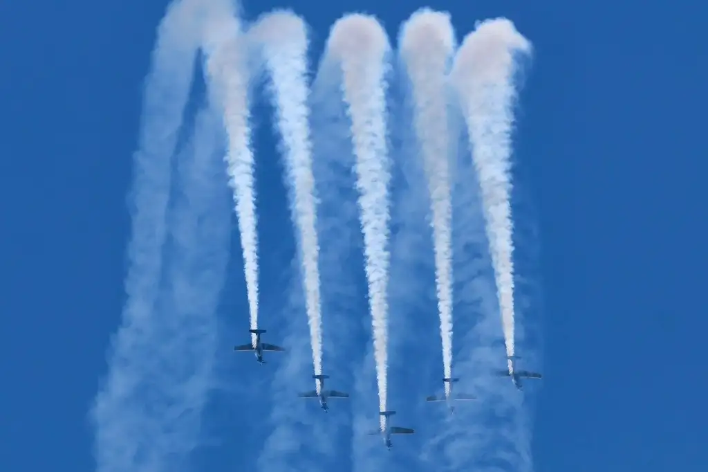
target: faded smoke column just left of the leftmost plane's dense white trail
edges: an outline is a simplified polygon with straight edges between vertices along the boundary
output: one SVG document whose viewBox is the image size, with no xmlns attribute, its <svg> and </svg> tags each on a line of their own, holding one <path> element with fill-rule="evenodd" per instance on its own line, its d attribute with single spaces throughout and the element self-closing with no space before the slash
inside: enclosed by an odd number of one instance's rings
<svg viewBox="0 0 708 472">
<path fill-rule="evenodd" d="M 169 218 L 171 251 L 164 305 L 159 306 L 160 339 L 154 368 L 168 388 L 151 405 L 164 417 L 164 433 L 152 447 L 184 453 L 199 445 L 202 409 L 214 382 L 216 308 L 229 258 L 229 197 L 221 177 L 223 142 L 217 111 L 208 105 L 195 121 L 191 142 L 178 160 L 180 191 Z M 149 354 L 147 354 L 149 356 Z M 148 397 L 152 397 L 148 394 Z M 183 458 L 168 456 L 165 470 L 179 470 Z"/>
</svg>

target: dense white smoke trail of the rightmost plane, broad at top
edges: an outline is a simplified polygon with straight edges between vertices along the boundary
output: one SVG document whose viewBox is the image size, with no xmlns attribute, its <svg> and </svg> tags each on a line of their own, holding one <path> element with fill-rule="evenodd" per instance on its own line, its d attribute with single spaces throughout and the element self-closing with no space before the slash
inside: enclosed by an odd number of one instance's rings
<svg viewBox="0 0 708 472">
<path fill-rule="evenodd" d="M 511 106 L 515 52 L 530 52 L 513 23 L 498 18 L 478 23 L 464 38 L 452 66 L 452 83 L 467 123 L 469 146 L 479 174 L 489 252 L 506 341 L 514 354 L 513 240 L 510 206 Z M 508 368 L 512 369 L 511 361 Z"/>
</svg>

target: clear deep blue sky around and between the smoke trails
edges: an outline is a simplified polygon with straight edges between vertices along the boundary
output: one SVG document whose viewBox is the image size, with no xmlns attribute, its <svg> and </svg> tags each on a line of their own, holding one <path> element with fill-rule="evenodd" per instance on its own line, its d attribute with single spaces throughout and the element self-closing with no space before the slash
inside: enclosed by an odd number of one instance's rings
<svg viewBox="0 0 708 472">
<path fill-rule="evenodd" d="M 399 23 L 425 5 L 383 4 L 244 2 L 244 13 L 255 18 L 291 6 L 307 18 L 319 51 L 344 12 L 375 13 L 394 40 Z M 8 379 L 0 394 L 0 465 L 8 470 L 94 468 L 87 410 L 124 303 L 130 157 L 164 7 L 163 1 L 84 0 L 0 5 L 7 45 L 0 78 L 6 222 L 0 365 Z M 701 136 L 700 111 L 708 105 L 700 50 L 706 7 L 554 0 L 440 1 L 435 8 L 452 13 L 458 38 L 476 20 L 506 16 L 535 47 L 515 135 L 520 186 L 529 195 L 519 221 L 536 227 L 540 247 L 534 276 L 541 294 L 528 315 L 543 339 L 544 380 L 529 407 L 535 469 L 703 470 L 708 388 L 699 346 L 706 322 L 697 294 L 708 262 L 702 244 L 708 150 L 691 136 Z M 268 118 L 256 120 L 265 162 L 258 186 L 278 189 L 259 192 L 268 215 L 261 217 L 261 245 L 272 248 L 261 270 L 273 280 L 290 264 L 294 241 L 279 237 L 290 233 L 286 193 Z M 219 345 L 227 347 L 246 326 L 237 255 L 236 242 L 219 307 Z M 287 283 L 287 276 L 263 283 L 265 313 L 289 306 L 281 296 Z M 306 320 L 297 311 L 292 318 L 269 332 L 295 342 L 292 332 L 306 332 Z M 430 325 L 437 342 L 435 317 Z M 234 381 L 215 395 L 205 419 L 216 440 L 194 459 L 216 470 L 253 461 L 265 432 L 250 437 L 239 429 L 270 413 L 268 401 L 246 391 L 252 379 L 268 388 L 270 373 L 232 354 L 225 349 L 229 358 L 217 369 Z M 351 383 L 360 361 L 342 356 L 339 365 L 357 364 L 343 380 Z M 271 367 L 287 369 L 286 362 Z M 430 371 L 426 378 L 439 364 L 430 359 L 422 366 Z M 396 369 L 392 384 L 406 382 Z M 411 409 L 401 422 L 419 423 L 414 400 L 401 400 L 401 413 Z M 337 454 L 348 457 L 350 446 L 340 442 L 345 449 Z M 412 446 L 401 444 L 401 461 L 409 457 L 406 447 Z"/>
</svg>

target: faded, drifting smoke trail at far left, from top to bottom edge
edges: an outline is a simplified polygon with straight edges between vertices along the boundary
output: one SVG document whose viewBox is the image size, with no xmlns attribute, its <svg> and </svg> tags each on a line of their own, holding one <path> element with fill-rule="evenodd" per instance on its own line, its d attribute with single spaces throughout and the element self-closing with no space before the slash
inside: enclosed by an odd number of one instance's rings
<svg viewBox="0 0 708 472">
<path fill-rule="evenodd" d="M 96 395 L 91 417 L 96 426 L 98 471 L 161 470 L 167 454 L 186 453 L 191 444 L 171 444 L 156 436 L 173 427 L 168 411 L 146 410 L 149 393 L 166 395 L 174 387 L 161 362 L 170 359 L 171 345 L 156 344 L 161 333 L 155 305 L 166 237 L 171 158 L 188 99 L 198 48 L 194 4 L 175 1 L 158 28 L 152 70 L 144 92 L 142 130 L 134 154 L 132 238 L 125 281 L 127 302 L 122 326 L 113 339 L 108 378 Z M 168 375 L 168 376 L 166 376 Z"/>
</svg>

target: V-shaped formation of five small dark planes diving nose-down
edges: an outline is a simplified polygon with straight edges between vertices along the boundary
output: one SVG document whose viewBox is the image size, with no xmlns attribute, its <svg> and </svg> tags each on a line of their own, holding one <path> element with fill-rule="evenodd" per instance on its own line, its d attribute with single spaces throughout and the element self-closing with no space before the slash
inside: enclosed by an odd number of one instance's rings
<svg viewBox="0 0 708 472">
<path fill-rule="evenodd" d="M 234 346 L 234 351 L 253 352 L 253 354 L 256 355 L 256 361 L 258 361 L 259 365 L 266 364 L 265 360 L 263 360 L 263 352 L 285 352 L 285 349 L 280 346 L 262 342 L 261 335 L 263 335 L 265 332 L 265 330 L 249 330 L 249 333 L 251 333 L 251 344 L 241 344 L 240 346 Z M 522 378 L 542 378 L 540 373 L 516 369 L 516 360 L 521 359 L 520 356 L 508 356 L 507 359 L 509 361 L 509 368 L 507 370 L 496 371 L 495 375 L 501 377 L 510 377 L 511 381 L 514 383 L 514 386 L 518 390 L 523 390 L 523 386 L 521 383 Z M 346 392 L 324 389 L 324 381 L 329 378 L 329 376 L 313 375 L 312 378 L 314 378 L 315 380 L 316 390 L 310 390 L 309 392 L 300 393 L 299 398 L 317 398 L 319 400 L 320 408 L 322 408 L 324 412 L 329 411 L 329 403 L 327 403 L 327 400 L 329 398 L 349 398 L 349 394 Z M 443 378 L 443 385 L 449 384 L 450 386 L 449 388 L 445 389 L 445 395 L 430 395 L 426 397 L 426 401 L 445 402 L 447 404 L 448 410 L 450 411 L 450 414 L 452 415 L 452 413 L 455 412 L 455 406 L 453 405 L 453 402 L 476 400 L 476 397 L 474 395 L 469 395 L 467 393 L 455 393 L 453 395 L 452 386 L 458 381 L 459 378 Z M 379 415 L 383 417 L 380 428 L 376 431 L 368 433 L 368 435 L 370 436 L 377 436 L 380 434 L 382 439 L 384 440 L 384 445 L 389 451 L 393 447 L 393 443 L 391 441 L 392 434 L 414 434 L 416 432 L 415 429 L 411 428 L 391 426 L 390 419 L 395 414 L 396 412 L 393 410 L 379 412 Z"/>
</svg>

